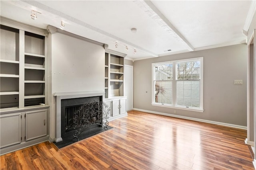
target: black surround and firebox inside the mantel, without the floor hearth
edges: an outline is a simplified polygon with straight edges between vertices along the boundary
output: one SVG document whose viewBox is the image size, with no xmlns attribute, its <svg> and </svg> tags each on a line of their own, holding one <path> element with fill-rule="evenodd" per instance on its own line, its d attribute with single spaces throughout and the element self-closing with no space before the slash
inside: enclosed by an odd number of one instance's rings
<svg viewBox="0 0 256 170">
<path fill-rule="evenodd" d="M 61 100 L 61 137 L 76 137 L 90 125 L 102 125 L 102 96 Z"/>
</svg>

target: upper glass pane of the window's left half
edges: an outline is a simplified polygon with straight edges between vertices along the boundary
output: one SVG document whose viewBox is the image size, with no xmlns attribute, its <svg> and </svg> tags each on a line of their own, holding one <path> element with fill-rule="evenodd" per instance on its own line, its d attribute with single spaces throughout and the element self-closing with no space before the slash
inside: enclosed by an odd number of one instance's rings
<svg viewBox="0 0 256 170">
<path fill-rule="evenodd" d="M 155 80 L 172 80 L 172 64 L 155 65 Z"/>
</svg>

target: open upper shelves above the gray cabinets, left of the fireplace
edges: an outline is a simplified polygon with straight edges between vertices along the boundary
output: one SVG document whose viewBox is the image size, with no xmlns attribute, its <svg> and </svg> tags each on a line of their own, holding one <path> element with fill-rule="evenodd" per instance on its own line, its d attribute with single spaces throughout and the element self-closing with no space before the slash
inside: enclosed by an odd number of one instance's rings
<svg viewBox="0 0 256 170">
<path fill-rule="evenodd" d="M 6 25 L 1 25 L 0 30 L 0 108 L 45 104 L 44 33 L 32 33 Z"/>
</svg>

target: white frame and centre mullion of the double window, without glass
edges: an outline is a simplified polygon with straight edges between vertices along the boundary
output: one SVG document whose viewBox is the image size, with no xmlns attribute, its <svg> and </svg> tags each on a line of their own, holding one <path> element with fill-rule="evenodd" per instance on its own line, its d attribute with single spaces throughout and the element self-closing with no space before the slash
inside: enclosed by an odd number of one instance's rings
<svg viewBox="0 0 256 170">
<path fill-rule="evenodd" d="M 194 108 L 194 107 L 183 107 L 183 106 L 177 106 L 176 105 L 176 80 L 177 80 L 177 68 L 176 64 L 177 63 L 182 63 L 182 62 L 192 62 L 192 61 L 200 61 L 200 107 L 199 108 Z M 156 103 L 155 102 L 155 85 L 154 85 L 154 80 L 155 80 L 155 65 L 157 64 L 169 64 L 172 63 L 172 105 L 170 104 L 162 104 L 162 103 Z M 152 63 L 152 106 L 159 106 L 159 107 L 168 107 L 168 108 L 173 108 L 173 109 L 182 109 L 182 110 L 189 110 L 189 111 L 197 111 L 197 112 L 204 112 L 204 86 L 203 86 L 203 57 L 197 57 L 197 58 L 190 58 L 190 59 L 182 59 L 182 60 L 174 60 L 174 61 L 164 61 L 160 63 Z"/>
</svg>

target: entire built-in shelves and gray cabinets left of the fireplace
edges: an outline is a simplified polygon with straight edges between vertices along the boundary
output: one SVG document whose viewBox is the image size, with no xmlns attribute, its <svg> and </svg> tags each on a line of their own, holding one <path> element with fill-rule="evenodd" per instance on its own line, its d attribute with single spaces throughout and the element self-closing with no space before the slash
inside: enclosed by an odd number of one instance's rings
<svg viewBox="0 0 256 170">
<path fill-rule="evenodd" d="M 1 17 L 0 154 L 49 138 L 47 31 Z"/>
</svg>

